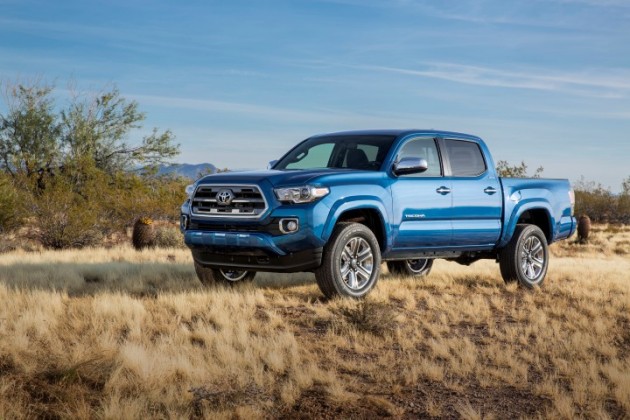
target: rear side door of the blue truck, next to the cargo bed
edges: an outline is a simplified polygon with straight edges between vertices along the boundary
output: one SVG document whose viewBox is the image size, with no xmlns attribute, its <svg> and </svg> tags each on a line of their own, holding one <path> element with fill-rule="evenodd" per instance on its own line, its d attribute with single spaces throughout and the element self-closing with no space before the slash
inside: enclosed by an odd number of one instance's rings
<svg viewBox="0 0 630 420">
<path fill-rule="evenodd" d="M 494 170 L 489 170 L 475 141 L 444 139 L 452 183 L 454 247 L 491 248 L 501 234 L 503 197 Z"/>
</svg>

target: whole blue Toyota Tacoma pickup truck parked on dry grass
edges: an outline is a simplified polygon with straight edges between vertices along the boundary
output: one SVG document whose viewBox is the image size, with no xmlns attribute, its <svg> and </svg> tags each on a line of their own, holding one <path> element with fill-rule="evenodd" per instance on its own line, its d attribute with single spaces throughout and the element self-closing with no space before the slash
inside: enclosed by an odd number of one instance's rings
<svg viewBox="0 0 630 420">
<path fill-rule="evenodd" d="M 576 228 L 567 180 L 500 178 L 480 138 L 436 130 L 313 136 L 266 171 L 208 175 L 187 193 L 181 229 L 202 283 L 312 271 L 327 297 L 365 296 L 382 262 L 420 277 L 436 258 L 494 259 L 506 282 L 534 287 L 548 244 Z"/>
</svg>

